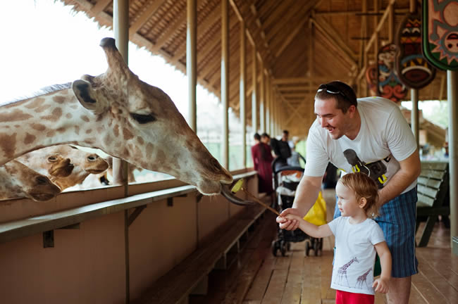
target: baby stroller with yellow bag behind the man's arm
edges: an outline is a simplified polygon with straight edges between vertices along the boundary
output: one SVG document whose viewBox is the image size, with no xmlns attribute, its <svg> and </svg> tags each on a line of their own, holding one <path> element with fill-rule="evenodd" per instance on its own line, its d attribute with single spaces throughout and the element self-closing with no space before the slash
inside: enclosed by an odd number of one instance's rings
<svg viewBox="0 0 458 304">
<path fill-rule="evenodd" d="M 300 157 L 302 160 L 304 160 L 305 163 L 305 159 L 302 156 Z M 276 208 L 281 213 L 287 208 L 292 208 L 292 202 L 295 199 L 296 188 L 302 175 L 304 174 L 304 168 L 288 165 L 278 166 L 278 164 L 276 164 L 277 161 L 278 158 L 272 162 L 273 189 L 276 191 L 276 201 L 274 202 L 275 206 L 273 208 Z M 315 212 L 316 210 L 313 210 L 316 209 L 316 205 L 318 205 L 317 207 L 320 211 L 318 213 Z M 309 213 L 307 213 L 306 217 L 304 218 L 309 222 L 313 222 L 314 224 L 326 224 L 326 204 L 321 197 L 321 192 L 314 207 L 309 211 Z M 280 227 L 278 227 L 277 238 L 272 241 L 271 245 L 272 253 L 274 256 L 277 256 L 277 252 L 280 251 L 281 255 L 285 256 L 286 252 L 290 251 L 291 242 L 297 243 L 304 240 L 306 241 L 305 254 L 307 256 L 309 255 L 310 249 L 314 250 L 315 255 L 321 253 L 323 249 L 322 238 L 316 239 L 314 237 L 308 236 L 300 229 L 291 231 L 280 229 Z"/>
</svg>

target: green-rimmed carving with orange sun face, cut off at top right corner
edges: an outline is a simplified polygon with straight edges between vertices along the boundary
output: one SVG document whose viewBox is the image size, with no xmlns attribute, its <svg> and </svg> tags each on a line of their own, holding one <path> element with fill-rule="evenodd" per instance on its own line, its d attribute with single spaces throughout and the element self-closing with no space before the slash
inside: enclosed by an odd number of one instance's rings
<svg viewBox="0 0 458 304">
<path fill-rule="evenodd" d="M 423 1 L 423 53 L 435 67 L 458 70 L 458 1 Z"/>
</svg>

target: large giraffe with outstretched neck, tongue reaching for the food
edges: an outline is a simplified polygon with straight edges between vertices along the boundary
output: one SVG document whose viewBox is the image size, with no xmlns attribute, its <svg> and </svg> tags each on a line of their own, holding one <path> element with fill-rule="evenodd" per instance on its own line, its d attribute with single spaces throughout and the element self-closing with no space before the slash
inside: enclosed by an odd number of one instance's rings
<svg viewBox="0 0 458 304">
<path fill-rule="evenodd" d="M 233 177 L 205 148 L 171 98 L 142 82 L 125 64 L 113 38 L 100 43 L 108 69 L 71 84 L 0 107 L 0 165 L 29 151 L 56 144 L 100 148 L 147 170 L 223 194 Z"/>
</svg>

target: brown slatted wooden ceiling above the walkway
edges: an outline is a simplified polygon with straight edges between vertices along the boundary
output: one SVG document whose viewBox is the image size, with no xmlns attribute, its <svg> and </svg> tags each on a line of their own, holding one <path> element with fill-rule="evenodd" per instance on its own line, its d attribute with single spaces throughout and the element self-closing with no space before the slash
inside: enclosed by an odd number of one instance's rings
<svg viewBox="0 0 458 304">
<path fill-rule="evenodd" d="M 111 26 L 113 1 L 63 0 L 85 11 L 100 25 Z M 261 67 L 282 103 L 283 128 L 304 134 L 314 119 L 313 97 L 323 82 L 342 80 L 366 96 L 363 49 L 392 0 L 229 0 L 230 103 L 239 109 L 240 18 L 247 28 L 247 96 L 252 92 L 252 43 L 256 45 L 258 89 Z M 409 0 L 394 1 L 394 29 L 409 12 Z M 130 0 L 130 40 L 186 72 L 186 0 Z M 416 4 L 419 8 L 421 5 Z M 366 11 L 366 13 L 363 13 Z M 388 18 L 387 18 L 388 19 Z M 197 78 L 220 95 L 221 0 L 197 0 Z M 378 46 L 390 37 L 388 21 L 380 25 Z M 252 40 L 252 41 L 251 41 Z M 375 44 L 368 50 L 374 62 Z M 419 99 L 445 99 L 445 72 L 419 91 Z M 409 96 L 407 96 L 409 99 Z M 251 103 L 247 103 L 251 120 Z M 295 127 L 297 121 L 301 122 Z M 250 122 L 248 122 L 250 124 Z"/>
</svg>

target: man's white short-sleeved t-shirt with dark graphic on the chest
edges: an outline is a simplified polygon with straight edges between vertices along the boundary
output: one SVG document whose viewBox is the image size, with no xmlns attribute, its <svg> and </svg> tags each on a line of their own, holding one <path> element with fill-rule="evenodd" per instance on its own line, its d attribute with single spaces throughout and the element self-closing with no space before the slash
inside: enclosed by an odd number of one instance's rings
<svg viewBox="0 0 458 304">
<path fill-rule="evenodd" d="M 396 103 L 382 97 L 358 99 L 361 128 L 355 139 L 345 135 L 332 139 L 318 120 L 307 138 L 304 175 L 323 176 L 328 162 L 343 172 L 364 172 L 378 184 L 387 184 L 405 160 L 416 150 L 416 141 Z M 404 192 L 416 186 L 416 180 Z M 403 192 L 403 193 L 404 193 Z"/>
</svg>

